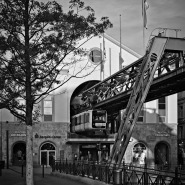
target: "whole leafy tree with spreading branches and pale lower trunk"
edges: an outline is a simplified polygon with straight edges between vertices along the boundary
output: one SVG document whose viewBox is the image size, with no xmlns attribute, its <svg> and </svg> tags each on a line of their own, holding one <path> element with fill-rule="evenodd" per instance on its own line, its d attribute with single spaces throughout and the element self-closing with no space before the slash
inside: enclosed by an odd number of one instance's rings
<svg viewBox="0 0 185 185">
<path fill-rule="evenodd" d="M 69 55 L 85 55 L 81 46 L 112 27 L 107 17 L 96 22 L 94 10 L 80 0 L 71 0 L 69 5 L 69 11 L 64 13 L 56 1 L 0 2 L 0 65 L 4 66 L 0 77 L 4 77 L 5 82 L 1 83 L 0 101 L 26 123 L 27 185 L 33 184 L 34 105 L 84 69 L 82 67 L 63 81 L 58 80 L 63 69 L 75 64 L 75 61 L 66 60 Z M 25 100 L 25 105 L 19 102 L 19 97 Z"/>
</svg>

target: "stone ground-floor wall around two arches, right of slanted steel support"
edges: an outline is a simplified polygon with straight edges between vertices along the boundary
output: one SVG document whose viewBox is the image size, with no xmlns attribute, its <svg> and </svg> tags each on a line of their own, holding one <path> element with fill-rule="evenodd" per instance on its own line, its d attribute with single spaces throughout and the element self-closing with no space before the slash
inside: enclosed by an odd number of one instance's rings
<svg viewBox="0 0 185 185">
<path fill-rule="evenodd" d="M 149 165 L 154 165 L 155 147 L 159 143 L 168 146 L 170 165 L 177 165 L 177 124 L 137 124 L 125 153 L 127 163 L 132 162 L 133 147 L 138 142 L 147 147 L 146 157 Z"/>
</svg>

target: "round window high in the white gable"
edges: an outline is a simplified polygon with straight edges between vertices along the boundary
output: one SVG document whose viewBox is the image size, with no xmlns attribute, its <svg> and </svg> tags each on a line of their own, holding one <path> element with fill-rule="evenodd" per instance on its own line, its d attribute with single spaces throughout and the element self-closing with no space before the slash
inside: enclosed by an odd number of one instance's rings
<svg viewBox="0 0 185 185">
<path fill-rule="evenodd" d="M 99 64 L 102 61 L 102 52 L 99 48 L 93 48 L 89 52 L 89 59 L 94 64 Z"/>
</svg>

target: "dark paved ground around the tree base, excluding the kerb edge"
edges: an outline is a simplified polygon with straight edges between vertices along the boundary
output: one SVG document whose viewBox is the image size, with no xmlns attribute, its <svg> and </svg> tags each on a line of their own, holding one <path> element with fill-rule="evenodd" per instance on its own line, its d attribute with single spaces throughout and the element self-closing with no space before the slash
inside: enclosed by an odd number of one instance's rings
<svg viewBox="0 0 185 185">
<path fill-rule="evenodd" d="M 44 177 L 41 167 L 34 168 L 34 185 L 82 185 L 82 182 L 69 178 L 59 178 L 51 175 L 51 168 L 44 168 Z M 26 185 L 25 169 L 24 176 L 21 174 L 21 167 L 10 167 L 3 169 L 0 176 L 0 185 Z"/>
</svg>

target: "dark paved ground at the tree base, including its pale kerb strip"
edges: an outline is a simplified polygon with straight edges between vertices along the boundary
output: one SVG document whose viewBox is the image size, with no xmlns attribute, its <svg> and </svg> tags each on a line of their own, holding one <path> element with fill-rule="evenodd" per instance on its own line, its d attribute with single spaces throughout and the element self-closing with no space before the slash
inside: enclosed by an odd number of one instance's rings
<svg viewBox="0 0 185 185">
<path fill-rule="evenodd" d="M 86 177 L 73 176 L 52 172 L 50 167 L 34 167 L 33 169 L 34 185 L 105 185 L 105 183 L 89 179 Z M 44 175 L 43 175 L 44 174 Z M 0 176 L 0 185 L 26 185 L 25 167 L 10 166 L 9 169 L 2 169 Z"/>
</svg>

